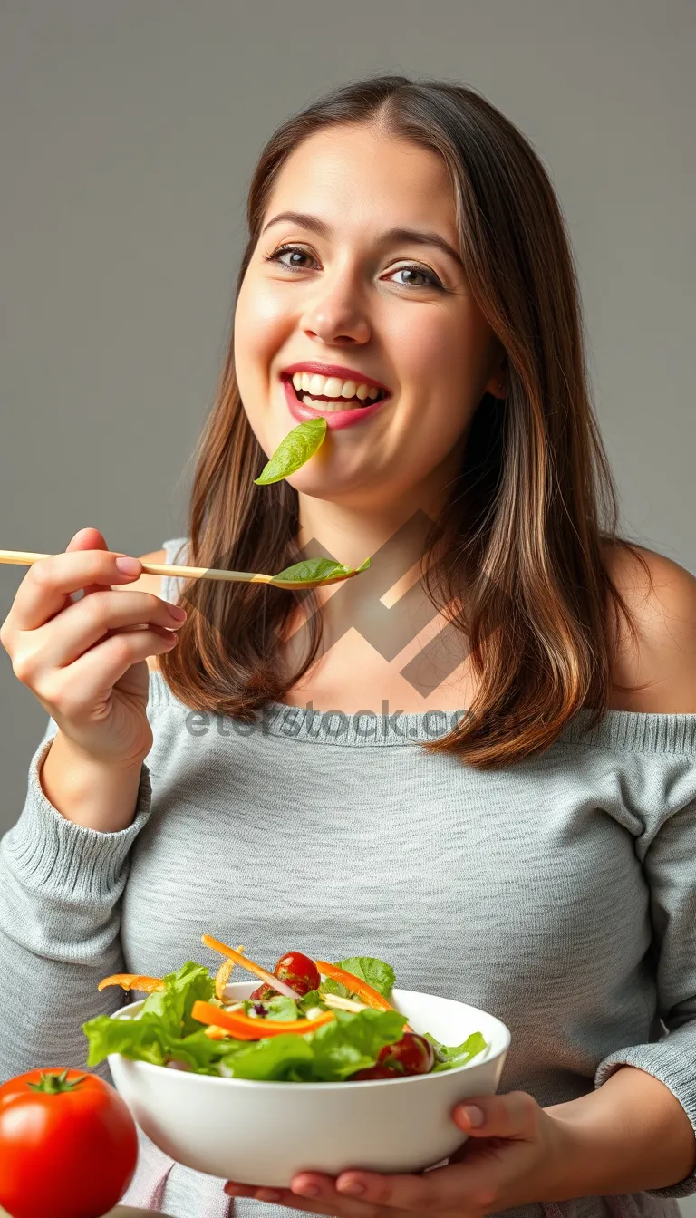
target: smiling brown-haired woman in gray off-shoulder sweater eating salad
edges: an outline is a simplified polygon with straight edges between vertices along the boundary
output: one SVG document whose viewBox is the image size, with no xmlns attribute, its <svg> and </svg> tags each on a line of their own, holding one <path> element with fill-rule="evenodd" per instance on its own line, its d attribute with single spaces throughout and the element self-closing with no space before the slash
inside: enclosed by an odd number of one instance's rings
<svg viewBox="0 0 696 1218">
<path fill-rule="evenodd" d="M 457 1161 L 225 1192 L 143 1139 L 127 1202 L 676 1216 L 696 586 L 617 533 L 549 179 L 475 93 L 379 77 L 279 128 L 249 223 L 188 535 L 143 560 L 373 561 L 312 596 L 186 586 L 84 529 L 28 571 L 1 639 L 51 720 L 1 848 L 4 977 L 32 994 L 2 1073 L 82 1066 L 123 1001 L 96 983 L 204 961 L 202 931 L 266 963 L 369 952 L 512 1030 Z M 255 485 L 318 415 L 316 454 Z"/>
</svg>

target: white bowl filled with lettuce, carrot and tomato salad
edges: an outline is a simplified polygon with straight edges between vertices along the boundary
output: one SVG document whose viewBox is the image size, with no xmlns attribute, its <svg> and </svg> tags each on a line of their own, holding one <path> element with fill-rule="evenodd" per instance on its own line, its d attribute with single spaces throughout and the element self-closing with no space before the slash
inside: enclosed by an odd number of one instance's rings
<svg viewBox="0 0 696 1218">
<path fill-rule="evenodd" d="M 372 956 L 286 952 L 273 972 L 224 959 L 166 977 L 116 974 L 145 993 L 83 1024 L 144 1133 L 173 1160 L 240 1183 L 288 1186 L 305 1169 L 416 1172 L 466 1141 L 455 1105 L 492 1094 L 510 1032 L 453 999 L 396 988 Z M 252 982 L 230 982 L 239 966 Z M 261 984 L 258 984 L 261 983 Z M 346 1085 L 347 1084 L 347 1085 Z"/>
</svg>

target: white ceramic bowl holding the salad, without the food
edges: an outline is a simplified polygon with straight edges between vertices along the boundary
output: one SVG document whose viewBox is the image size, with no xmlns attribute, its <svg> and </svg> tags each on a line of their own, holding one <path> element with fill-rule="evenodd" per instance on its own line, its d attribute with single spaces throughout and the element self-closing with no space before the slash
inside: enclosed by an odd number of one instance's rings
<svg viewBox="0 0 696 1218">
<path fill-rule="evenodd" d="M 230 984 L 225 995 L 239 1001 L 256 984 Z M 121 1054 L 110 1054 L 108 1066 L 145 1134 L 196 1172 L 271 1188 L 288 1188 L 300 1170 L 419 1172 L 467 1140 L 452 1108 L 497 1090 L 511 1034 L 466 1002 L 401 989 L 391 1001 L 414 1032 L 430 1032 L 445 1045 L 481 1032 L 489 1047 L 456 1069 L 364 1083 L 213 1078 Z M 133 1002 L 115 1018 L 133 1018 L 141 1005 Z"/>
</svg>

